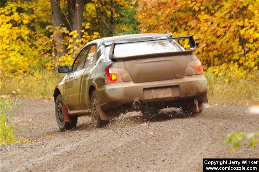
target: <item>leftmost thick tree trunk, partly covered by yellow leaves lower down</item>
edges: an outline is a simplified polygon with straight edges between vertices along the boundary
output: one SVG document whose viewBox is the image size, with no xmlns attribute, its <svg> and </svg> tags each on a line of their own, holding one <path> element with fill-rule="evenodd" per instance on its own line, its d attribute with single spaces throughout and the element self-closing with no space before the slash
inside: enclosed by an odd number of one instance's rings
<svg viewBox="0 0 259 172">
<path fill-rule="evenodd" d="M 51 14 L 52 14 L 52 24 L 54 28 L 54 40 L 55 45 L 53 47 L 53 52 L 56 52 L 58 57 L 64 56 L 64 45 L 63 35 L 59 33 L 57 27 L 61 27 L 62 24 L 62 17 L 61 17 L 61 10 L 59 6 L 59 0 L 51 0 Z M 57 29 L 56 29 L 57 28 Z"/>
</svg>

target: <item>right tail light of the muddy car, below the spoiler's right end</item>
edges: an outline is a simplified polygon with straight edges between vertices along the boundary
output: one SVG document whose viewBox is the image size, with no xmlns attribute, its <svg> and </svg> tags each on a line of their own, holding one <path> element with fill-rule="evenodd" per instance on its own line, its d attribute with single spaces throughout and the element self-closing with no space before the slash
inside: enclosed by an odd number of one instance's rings
<svg viewBox="0 0 259 172">
<path fill-rule="evenodd" d="M 203 74 L 203 67 L 199 59 L 195 59 L 187 63 L 184 75 L 197 75 Z"/>
</svg>

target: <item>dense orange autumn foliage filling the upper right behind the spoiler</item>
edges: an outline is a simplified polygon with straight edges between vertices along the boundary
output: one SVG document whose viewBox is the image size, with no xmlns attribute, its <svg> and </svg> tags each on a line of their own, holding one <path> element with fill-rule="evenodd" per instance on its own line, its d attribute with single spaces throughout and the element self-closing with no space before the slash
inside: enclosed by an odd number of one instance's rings
<svg viewBox="0 0 259 172">
<path fill-rule="evenodd" d="M 204 67 L 258 70 L 259 1 L 138 1 L 142 33 L 193 35 Z M 237 70 L 238 71 L 238 70 Z"/>
</svg>

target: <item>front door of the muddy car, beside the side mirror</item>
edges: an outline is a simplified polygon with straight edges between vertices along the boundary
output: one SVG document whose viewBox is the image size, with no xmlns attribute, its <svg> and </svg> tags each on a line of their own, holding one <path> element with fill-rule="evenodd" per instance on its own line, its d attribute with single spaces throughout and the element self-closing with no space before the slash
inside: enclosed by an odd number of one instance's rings
<svg viewBox="0 0 259 172">
<path fill-rule="evenodd" d="M 84 63 L 86 61 L 86 56 L 89 49 L 90 46 L 87 46 L 80 51 L 71 66 L 71 73 L 68 74 L 65 80 L 65 96 L 69 110 L 82 109 L 79 96 L 83 74 L 86 71 L 86 68 L 84 68 Z"/>
</svg>

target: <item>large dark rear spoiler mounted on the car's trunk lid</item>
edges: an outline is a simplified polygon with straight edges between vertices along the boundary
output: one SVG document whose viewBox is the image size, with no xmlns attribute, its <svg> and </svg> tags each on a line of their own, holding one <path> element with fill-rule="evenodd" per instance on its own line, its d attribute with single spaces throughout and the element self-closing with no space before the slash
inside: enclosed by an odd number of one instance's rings
<svg viewBox="0 0 259 172">
<path fill-rule="evenodd" d="M 172 39 L 172 40 L 188 39 L 190 49 L 188 49 L 186 51 L 161 52 L 161 53 L 152 53 L 152 54 L 144 54 L 144 55 L 137 55 L 137 56 L 125 56 L 125 57 L 116 57 L 114 55 L 114 47 L 117 44 L 126 44 L 126 43 L 132 43 L 132 42 L 148 42 L 148 41 L 157 41 L 157 40 L 170 40 L 170 39 Z M 192 54 L 192 52 L 196 50 L 196 45 L 195 45 L 195 42 L 194 42 L 194 39 L 193 39 L 192 35 L 165 38 L 165 39 L 151 39 L 151 40 L 143 40 L 143 41 L 132 41 L 132 42 L 122 42 L 122 43 L 114 42 L 114 43 L 112 43 L 111 49 L 109 51 L 109 59 L 115 60 L 115 61 L 125 61 L 125 60 L 133 60 L 133 59 L 142 59 L 142 58 L 146 58 L 146 57 L 188 55 L 188 54 Z"/>
</svg>

